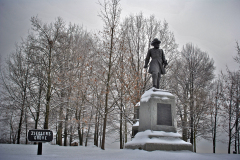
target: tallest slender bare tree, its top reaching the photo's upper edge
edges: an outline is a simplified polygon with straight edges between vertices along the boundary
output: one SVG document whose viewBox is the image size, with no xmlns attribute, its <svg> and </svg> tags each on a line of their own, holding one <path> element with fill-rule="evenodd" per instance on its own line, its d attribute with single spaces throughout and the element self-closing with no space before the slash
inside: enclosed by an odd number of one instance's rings
<svg viewBox="0 0 240 160">
<path fill-rule="evenodd" d="M 106 126 L 107 126 L 107 116 L 113 107 L 113 103 L 109 104 L 109 95 L 111 91 L 111 79 L 113 75 L 113 65 L 116 54 L 116 43 L 117 43 L 117 27 L 119 24 L 119 17 L 121 13 L 120 0 L 104 1 L 99 5 L 102 7 L 101 14 L 99 15 L 104 22 L 103 31 L 103 61 L 106 63 L 106 68 L 104 68 L 105 79 L 105 104 L 104 104 L 104 120 L 103 120 L 103 135 L 102 135 L 102 149 L 105 149 L 105 137 L 106 137 Z"/>
</svg>

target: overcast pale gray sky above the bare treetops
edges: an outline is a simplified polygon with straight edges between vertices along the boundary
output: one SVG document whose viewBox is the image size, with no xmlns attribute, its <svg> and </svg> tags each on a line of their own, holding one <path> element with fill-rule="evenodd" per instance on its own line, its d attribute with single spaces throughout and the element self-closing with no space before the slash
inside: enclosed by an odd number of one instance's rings
<svg viewBox="0 0 240 160">
<path fill-rule="evenodd" d="M 38 15 L 43 22 L 53 22 L 60 16 L 67 24 L 83 25 L 89 31 L 101 29 L 97 2 L 0 0 L 2 59 L 14 51 L 21 37 L 27 36 L 32 16 Z M 236 41 L 240 43 L 240 0 L 121 0 L 121 7 L 122 18 L 142 11 L 145 17 L 154 14 L 158 20 L 165 19 L 174 32 L 179 50 L 188 42 L 197 45 L 214 59 L 216 73 L 225 70 L 226 65 L 231 70 L 238 69 L 232 57 L 236 55 Z M 205 149 L 211 152 L 211 146 Z M 226 146 L 223 149 L 227 151 Z"/>
</svg>

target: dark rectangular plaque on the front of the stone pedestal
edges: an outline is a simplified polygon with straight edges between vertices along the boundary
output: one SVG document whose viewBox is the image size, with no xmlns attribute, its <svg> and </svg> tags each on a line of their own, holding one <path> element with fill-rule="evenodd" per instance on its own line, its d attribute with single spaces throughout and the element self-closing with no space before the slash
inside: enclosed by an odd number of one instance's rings
<svg viewBox="0 0 240 160">
<path fill-rule="evenodd" d="M 157 125 L 172 126 L 171 104 L 157 104 Z"/>
</svg>

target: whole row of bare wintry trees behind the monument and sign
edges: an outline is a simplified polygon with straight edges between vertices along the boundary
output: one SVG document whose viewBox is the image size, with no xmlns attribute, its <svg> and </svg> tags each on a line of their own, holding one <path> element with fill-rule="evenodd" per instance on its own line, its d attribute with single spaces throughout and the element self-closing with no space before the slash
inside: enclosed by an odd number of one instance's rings
<svg viewBox="0 0 240 160">
<path fill-rule="evenodd" d="M 143 13 L 120 19 L 120 0 L 99 3 L 103 30 L 88 32 L 62 18 L 32 29 L 1 67 L 1 142 L 28 144 L 29 129 L 51 129 L 58 145 L 89 142 L 105 149 L 106 135 L 131 136 L 134 106 L 151 87 L 144 59 L 153 38 L 161 40 L 168 66 L 161 88 L 176 96 L 179 132 L 193 144 L 228 134 L 239 153 L 239 69 L 214 75 L 214 61 L 191 43 L 178 51 L 166 21 Z M 237 56 L 240 64 L 240 49 Z"/>
</svg>

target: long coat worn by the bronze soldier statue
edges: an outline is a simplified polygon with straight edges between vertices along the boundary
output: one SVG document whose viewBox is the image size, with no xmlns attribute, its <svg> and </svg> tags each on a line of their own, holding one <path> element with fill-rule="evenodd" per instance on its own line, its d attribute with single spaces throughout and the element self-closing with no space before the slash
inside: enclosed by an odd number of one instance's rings
<svg viewBox="0 0 240 160">
<path fill-rule="evenodd" d="M 152 60 L 150 62 L 150 67 L 149 67 L 148 72 L 151 73 L 151 74 L 153 72 L 166 74 L 166 70 L 163 67 L 163 62 L 166 61 L 163 50 L 162 49 L 156 49 L 156 48 L 149 49 L 148 53 L 147 53 L 147 57 L 145 59 L 145 66 L 148 65 L 150 57 L 152 58 Z"/>
</svg>

